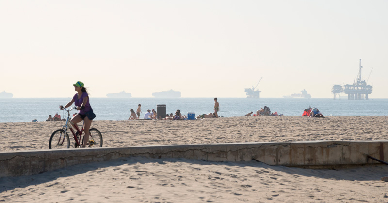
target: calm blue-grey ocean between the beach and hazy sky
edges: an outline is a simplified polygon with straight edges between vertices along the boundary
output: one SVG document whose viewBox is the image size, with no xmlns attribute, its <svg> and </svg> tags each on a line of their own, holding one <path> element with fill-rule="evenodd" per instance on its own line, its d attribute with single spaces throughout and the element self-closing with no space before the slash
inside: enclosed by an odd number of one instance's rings
<svg viewBox="0 0 388 203">
<path fill-rule="evenodd" d="M 59 105 L 66 105 L 71 98 L 10 98 L 0 99 L 0 122 L 31 122 L 36 119 L 44 121 L 49 114 L 58 112 L 62 118 L 65 112 Z M 387 116 L 388 99 L 369 100 L 333 100 L 333 98 L 218 98 L 220 103 L 219 116 L 232 117 L 245 114 L 268 106 L 271 112 L 284 116 L 302 116 L 303 110 L 318 108 L 324 116 Z M 156 105 L 165 104 L 168 114 L 177 109 L 182 114 L 194 112 L 195 115 L 213 111 L 213 98 L 90 98 L 90 104 L 97 115 L 95 120 L 126 120 L 130 109 L 136 111 L 142 104 L 141 118 L 147 109 L 155 109 Z M 76 112 L 76 111 L 73 111 Z"/>
</svg>

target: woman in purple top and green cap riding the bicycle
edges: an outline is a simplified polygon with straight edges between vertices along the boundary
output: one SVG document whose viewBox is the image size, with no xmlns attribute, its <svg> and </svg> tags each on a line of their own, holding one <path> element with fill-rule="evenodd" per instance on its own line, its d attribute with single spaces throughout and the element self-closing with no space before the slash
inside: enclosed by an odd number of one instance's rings
<svg viewBox="0 0 388 203">
<path fill-rule="evenodd" d="M 89 129 L 92 125 L 92 120 L 96 117 L 96 115 L 93 113 L 93 109 L 89 104 L 89 96 L 86 91 L 86 88 L 83 87 L 83 83 L 78 81 L 77 83 L 73 84 L 73 86 L 77 94 L 74 95 L 73 99 L 69 103 L 67 103 L 65 107 L 59 106 L 59 108 L 61 110 L 64 108 L 68 108 L 75 102 L 77 110 L 80 111 L 76 116 L 71 119 L 71 122 L 74 123 L 74 125 L 77 125 L 77 123 L 83 120 L 83 131 L 85 132 L 85 135 L 83 136 L 82 147 L 85 147 L 87 141 L 89 140 Z"/>
</svg>

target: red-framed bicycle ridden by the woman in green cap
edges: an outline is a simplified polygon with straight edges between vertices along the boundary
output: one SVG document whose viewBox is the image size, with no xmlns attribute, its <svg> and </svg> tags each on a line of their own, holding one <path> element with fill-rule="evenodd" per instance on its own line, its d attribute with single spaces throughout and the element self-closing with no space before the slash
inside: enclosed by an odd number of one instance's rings
<svg viewBox="0 0 388 203">
<path fill-rule="evenodd" d="M 81 147 L 83 145 L 83 139 L 82 138 L 82 132 L 83 130 L 83 124 L 82 124 L 82 129 L 78 128 L 78 126 L 74 125 L 70 121 L 70 111 L 73 109 L 77 109 L 76 106 L 70 108 L 70 109 L 65 109 L 67 111 L 67 119 L 65 125 L 62 127 L 62 129 L 58 129 L 54 131 L 51 134 L 50 141 L 49 141 L 49 149 L 61 149 L 61 148 L 70 148 L 70 138 L 67 133 L 68 129 L 70 129 L 71 133 L 73 134 L 74 137 L 74 147 Z M 68 126 L 68 124 L 71 124 Z M 74 129 L 76 131 L 74 131 Z M 82 142 L 81 142 L 82 140 Z M 102 135 L 101 132 L 98 131 L 96 128 L 91 128 L 89 129 L 89 140 L 86 143 L 88 147 L 102 147 Z"/>
</svg>

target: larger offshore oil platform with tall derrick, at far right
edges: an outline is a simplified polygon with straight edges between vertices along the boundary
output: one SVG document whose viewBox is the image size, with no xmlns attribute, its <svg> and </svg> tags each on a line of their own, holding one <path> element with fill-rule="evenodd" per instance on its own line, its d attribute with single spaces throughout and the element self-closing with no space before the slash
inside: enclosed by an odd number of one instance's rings
<svg viewBox="0 0 388 203">
<path fill-rule="evenodd" d="M 345 94 L 348 94 L 348 100 L 368 100 L 368 95 L 372 93 L 372 86 L 367 85 L 367 82 L 371 76 L 373 68 L 371 69 L 371 73 L 369 73 L 367 81 L 362 80 L 361 69 L 362 66 L 360 59 L 360 70 L 358 72 L 357 81 L 353 81 L 352 85 L 333 85 L 331 92 L 334 94 L 334 99 L 336 99 L 337 95 L 339 99 L 341 99 L 341 92 L 344 92 Z"/>
</svg>

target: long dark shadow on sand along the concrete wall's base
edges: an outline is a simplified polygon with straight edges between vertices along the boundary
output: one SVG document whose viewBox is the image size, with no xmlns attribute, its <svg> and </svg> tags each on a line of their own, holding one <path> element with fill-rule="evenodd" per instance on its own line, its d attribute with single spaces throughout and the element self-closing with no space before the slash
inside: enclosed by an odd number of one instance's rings
<svg viewBox="0 0 388 203">
<path fill-rule="evenodd" d="M 0 178 L 0 193 L 15 188 L 25 188 L 31 185 L 38 185 L 50 181 L 54 181 L 58 178 L 70 177 L 77 174 L 83 174 L 90 171 L 101 171 L 107 167 L 115 167 L 121 165 L 136 165 L 146 163 L 156 163 L 164 165 L 168 162 L 183 162 L 190 163 L 193 165 L 213 165 L 222 167 L 252 167 L 257 174 L 268 175 L 266 173 L 282 172 L 292 175 L 295 178 L 300 176 L 304 177 L 317 177 L 323 179 L 334 179 L 334 180 L 348 180 L 348 181 L 379 181 L 381 177 L 385 176 L 388 171 L 386 165 L 373 165 L 373 166 L 360 166 L 349 169 L 303 169 L 303 168 L 292 168 L 285 166 L 270 166 L 259 161 L 248 161 L 248 162 L 211 162 L 203 160 L 190 160 L 190 159 L 149 159 L 142 157 L 128 157 L 120 158 L 117 160 L 93 162 L 78 164 L 74 166 L 65 167 L 55 171 L 45 172 L 30 176 L 21 177 L 2 177 Z M 257 168 L 257 169 L 255 169 Z M 54 183 L 55 185 L 55 183 Z M 50 187 L 50 186 L 48 186 Z"/>
</svg>

